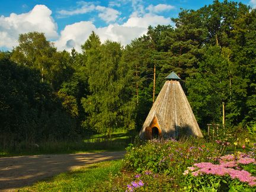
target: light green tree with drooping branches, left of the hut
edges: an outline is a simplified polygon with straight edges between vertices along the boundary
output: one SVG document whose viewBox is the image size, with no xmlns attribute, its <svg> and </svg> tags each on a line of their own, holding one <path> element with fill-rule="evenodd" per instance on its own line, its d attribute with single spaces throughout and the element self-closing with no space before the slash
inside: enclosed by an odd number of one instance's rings
<svg viewBox="0 0 256 192">
<path fill-rule="evenodd" d="M 119 127 L 134 129 L 131 118 L 134 107 L 127 87 L 126 66 L 121 63 L 120 44 L 111 41 L 100 44 L 98 36 L 92 33 L 82 47 L 90 91 L 87 98 L 81 100 L 88 114 L 84 124 L 108 135 Z"/>
</svg>

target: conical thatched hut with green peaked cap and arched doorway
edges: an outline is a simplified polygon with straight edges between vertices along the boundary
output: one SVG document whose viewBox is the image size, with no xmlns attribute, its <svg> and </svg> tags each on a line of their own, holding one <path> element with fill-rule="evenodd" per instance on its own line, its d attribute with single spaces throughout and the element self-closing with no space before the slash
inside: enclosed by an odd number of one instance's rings
<svg viewBox="0 0 256 192">
<path fill-rule="evenodd" d="M 184 135 L 203 137 L 180 78 L 172 72 L 149 111 L 139 136 L 141 139 L 168 139 Z"/>
</svg>

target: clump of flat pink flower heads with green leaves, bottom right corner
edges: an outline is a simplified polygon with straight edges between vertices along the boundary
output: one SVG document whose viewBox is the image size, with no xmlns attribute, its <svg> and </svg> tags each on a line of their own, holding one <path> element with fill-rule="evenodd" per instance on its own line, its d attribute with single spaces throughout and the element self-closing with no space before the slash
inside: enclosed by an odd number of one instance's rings
<svg viewBox="0 0 256 192">
<path fill-rule="evenodd" d="M 187 175 L 184 189 L 197 190 L 239 190 L 256 189 L 255 159 L 245 153 L 225 155 L 219 158 L 219 164 L 200 162 L 184 171 Z M 254 170 L 254 171 L 253 171 Z"/>
</svg>

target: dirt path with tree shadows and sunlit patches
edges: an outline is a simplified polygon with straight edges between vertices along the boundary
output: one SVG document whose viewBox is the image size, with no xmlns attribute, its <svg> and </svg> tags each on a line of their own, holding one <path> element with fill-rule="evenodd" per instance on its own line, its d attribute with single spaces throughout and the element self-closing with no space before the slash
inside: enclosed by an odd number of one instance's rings
<svg viewBox="0 0 256 192">
<path fill-rule="evenodd" d="M 15 191 L 60 172 L 123 156 L 124 152 L 100 152 L 0 158 L 0 191 Z"/>
</svg>

